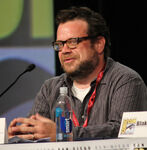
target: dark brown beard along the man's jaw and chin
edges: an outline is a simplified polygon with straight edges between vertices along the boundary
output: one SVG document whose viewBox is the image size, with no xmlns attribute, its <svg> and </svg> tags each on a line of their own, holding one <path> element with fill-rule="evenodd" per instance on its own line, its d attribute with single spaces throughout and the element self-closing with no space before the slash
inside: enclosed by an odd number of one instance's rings
<svg viewBox="0 0 147 150">
<path fill-rule="evenodd" d="M 72 80 L 77 80 L 88 77 L 95 70 L 98 64 L 99 64 L 98 52 L 94 50 L 93 55 L 89 57 L 87 60 L 81 62 L 74 71 L 67 72 L 63 66 L 62 68 Z"/>
</svg>

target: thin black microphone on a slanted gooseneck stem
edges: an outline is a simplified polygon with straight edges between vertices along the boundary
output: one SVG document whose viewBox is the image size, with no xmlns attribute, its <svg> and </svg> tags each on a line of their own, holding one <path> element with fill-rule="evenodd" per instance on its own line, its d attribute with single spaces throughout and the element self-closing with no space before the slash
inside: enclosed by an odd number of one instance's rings
<svg viewBox="0 0 147 150">
<path fill-rule="evenodd" d="M 35 69 L 35 65 L 34 64 L 30 64 L 25 70 L 24 72 L 22 72 L 16 79 L 15 81 L 13 81 L 1 94 L 0 94 L 0 98 L 18 81 L 18 79 L 24 75 L 26 72 L 31 72 L 32 70 Z"/>
</svg>

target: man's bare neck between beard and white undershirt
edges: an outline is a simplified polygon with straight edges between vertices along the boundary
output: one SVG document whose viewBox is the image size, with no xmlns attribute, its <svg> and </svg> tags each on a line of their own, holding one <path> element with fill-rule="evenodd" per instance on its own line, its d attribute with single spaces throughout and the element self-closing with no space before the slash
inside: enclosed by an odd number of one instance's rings
<svg viewBox="0 0 147 150">
<path fill-rule="evenodd" d="M 82 78 L 82 79 L 77 79 L 73 81 L 73 84 L 77 88 L 88 88 L 90 87 L 90 84 L 93 80 L 95 80 L 100 73 L 100 71 L 103 69 L 105 62 L 101 63 L 89 76 Z"/>
</svg>

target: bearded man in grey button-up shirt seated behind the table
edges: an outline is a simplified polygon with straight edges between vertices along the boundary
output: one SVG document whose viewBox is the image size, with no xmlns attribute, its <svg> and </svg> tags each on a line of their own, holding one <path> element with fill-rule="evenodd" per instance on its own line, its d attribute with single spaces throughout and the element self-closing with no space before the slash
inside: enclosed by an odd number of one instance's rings
<svg viewBox="0 0 147 150">
<path fill-rule="evenodd" d="M 109 30 L 100 14 L 73 7 L 59 12 L 57 25 L 53 47 L 65 73 L 45 81 L 30 117 L 14 119 L 9 137 L 55 141 L 54 107 L 61 86 L 68 87 L 72 99 L 74 140 L 117 137 L 123 112 L 147 110 L 143 80 L 108 57 Z"/>
</svg>

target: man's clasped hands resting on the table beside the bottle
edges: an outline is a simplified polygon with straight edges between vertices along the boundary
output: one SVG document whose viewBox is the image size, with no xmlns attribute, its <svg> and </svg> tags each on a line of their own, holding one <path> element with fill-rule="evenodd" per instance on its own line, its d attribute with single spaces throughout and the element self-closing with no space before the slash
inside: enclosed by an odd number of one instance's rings
<svg viewBox="0 0 147 150">
<path fill-rule="evenodd" d="M 17 123 L 21 123 L 21 125 L 17 125 Z M 56 124 L 39 114 L 30 118 L 16 118 L 9 125 L 8 136 L 11 138 L 16 135 L 31 140 L 50 137 L 51 141 L 55 141 Z"/>
</svg>

